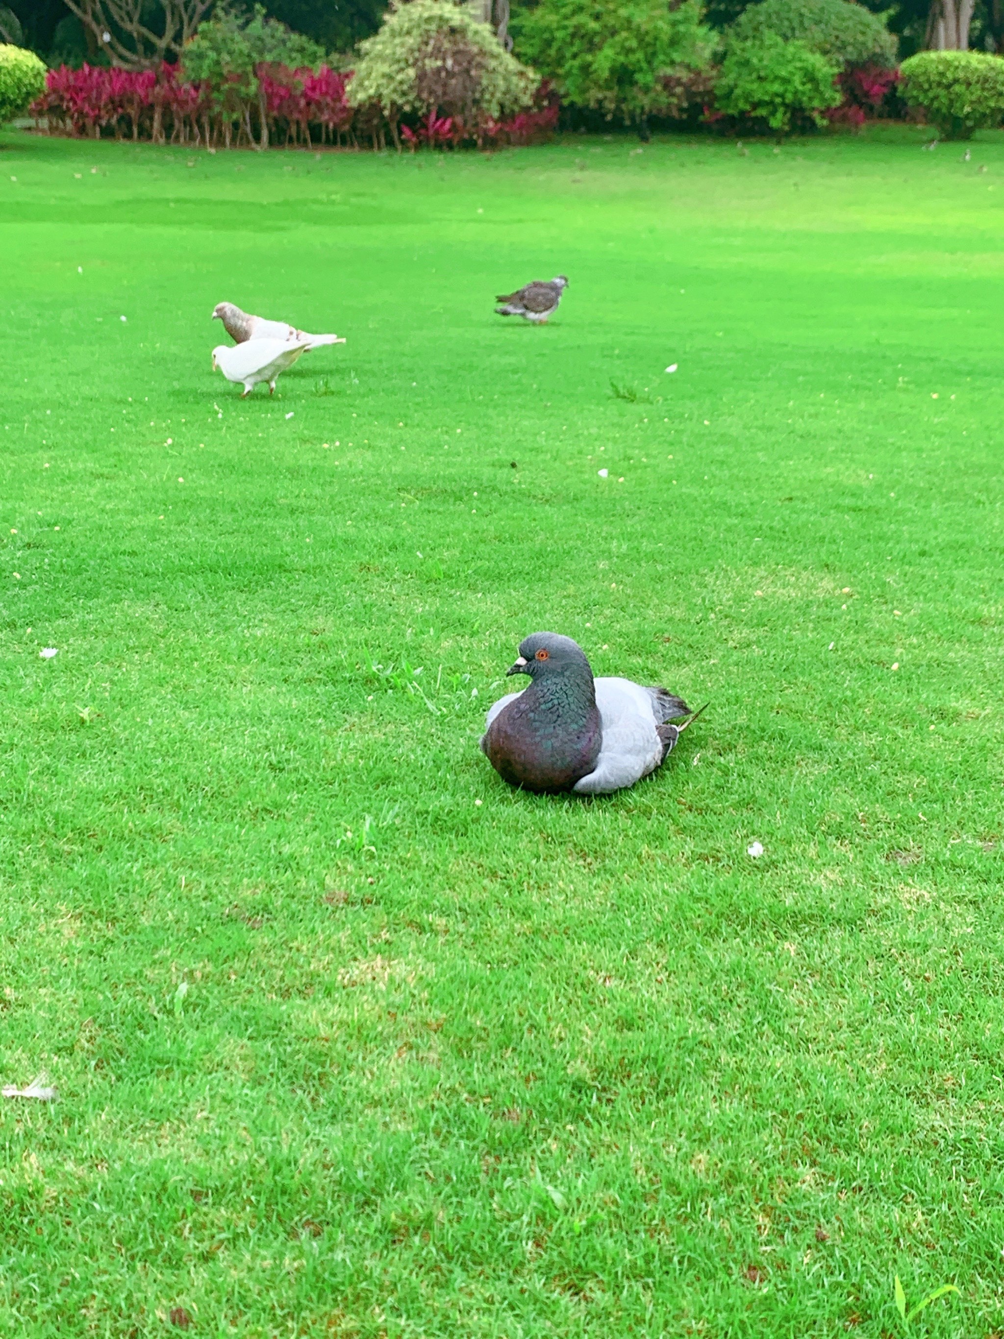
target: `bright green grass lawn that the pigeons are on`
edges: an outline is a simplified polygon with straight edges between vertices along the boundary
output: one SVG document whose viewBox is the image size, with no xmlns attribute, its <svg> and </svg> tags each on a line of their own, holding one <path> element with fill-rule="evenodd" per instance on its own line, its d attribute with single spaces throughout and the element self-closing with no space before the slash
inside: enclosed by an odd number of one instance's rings
<svg viewBox="0 0 1004 1339">
<path fill-rule="evenodd" d="M 1004 138 L 928 138 L 0 141 L 0 1334 L 1004 1330 Z M 224 299 L 348 344 L 241 402 Z M 491 771 L 541 628 L 711 702 L 652 779 Z"/>
</svg>

